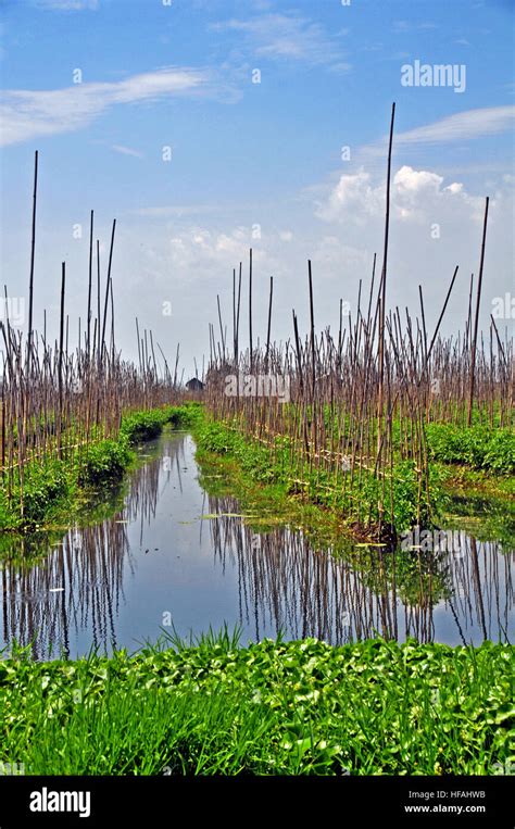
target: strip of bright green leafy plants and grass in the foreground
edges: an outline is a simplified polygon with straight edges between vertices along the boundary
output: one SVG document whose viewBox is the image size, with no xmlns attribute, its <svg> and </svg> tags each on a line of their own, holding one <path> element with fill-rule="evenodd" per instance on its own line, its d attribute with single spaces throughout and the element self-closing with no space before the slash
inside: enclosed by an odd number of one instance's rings
<svg viewBox="0 0 515 829">
<path fill-rule="evenodd" d="M 32 775 L 490 775 L 514 759 L 506 645 L 237 639 L 78 662 L 15 652 L 0 662 L 0 761 Z"/>
</svg>

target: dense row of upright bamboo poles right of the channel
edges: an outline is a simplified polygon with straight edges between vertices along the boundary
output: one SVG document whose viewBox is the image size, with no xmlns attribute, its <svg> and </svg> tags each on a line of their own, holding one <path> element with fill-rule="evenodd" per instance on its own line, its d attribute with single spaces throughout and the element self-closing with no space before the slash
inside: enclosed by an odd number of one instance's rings
<svg viewBox="0 0 515 829">
<path fill-rule="evenodd" d="M 468 313 L 464 330 L 442 336 L 442 321 L 455 289 L 454 268 L 438 322 L 428 330 L 422 286 L 417 314 L 407 307 L 387 310 L 387 264 L 390 229 L 390 177 L 394 122 L 392 108 L 386 188 L 382 265 L 378 276 L 374 255 L 368 291 L 357 286 L 354 315 L 343 314 L 340 300 L 336 335 L 316 331 L 314 277 L 307 263 L 310 329 L 302 336 L 292 310 L 292 332 L 284 343 L 271 338 L 274 279 L 269 280 L 266 339 L 253 339 L 253 268 L 249 255 L 248 346 L 241 347 L 243 315 L 242 263 L 233 272 L 231 326 L 223 319 L 217 297 L 218 334 L 210 325 L 210 362 L 205 400 L 213 417 L 224 419 L 249 437 L 269 447 L 274 461 L 277 437 L 289 439 L 291 465 L 300 487 L 305 469 L 328 473 L 335 489 L 359 491 L 366 480 L 379 481 L 379 533 L 393 525 L 391 488 L 386 482 L 395 460 L 414 462 L 418 476 L 418 523 L 430 512 L 429 457 L 426 425 L 431 422 L 467 427 L 480 423 L 491 428 L 513 428 L 513 335 L 500 330 L 490 315 L 487 331 L 479 328 L 483 284 L 489 199 L 485 203 L 478 277 L 467 285 Z M 244 288 L 244 286 L 243 286 Z M 231 330 L 233 341 L 229 332 Z M 239 377 L 237 393 L 228 393 L 227 379 Z M 252 379 L 256 391 L 252 390 Z M 259 391 L 260 381 L 276 382 L 275 392 Z M 247 384 L 247 390 L 246 390 Z M 268 389 L 271 387 L 268 386 Z M 284 391 L 292 405 L 285 405 Z M 277 393 L 279 391 L 280 393 Z M 282 399 L 280 399 L 282 395 Z M 360 497 L 351 510 L 360 524 L 370 524 L 361 511 Z M 369 511 L 368 511 L 369 512 Z M 427 517 L 427 516 L 426 516 Z M 430 517 L 430 516 L 429 516 Z M 376 520 L 377 524 L 377 520 Z"/>
</svg>

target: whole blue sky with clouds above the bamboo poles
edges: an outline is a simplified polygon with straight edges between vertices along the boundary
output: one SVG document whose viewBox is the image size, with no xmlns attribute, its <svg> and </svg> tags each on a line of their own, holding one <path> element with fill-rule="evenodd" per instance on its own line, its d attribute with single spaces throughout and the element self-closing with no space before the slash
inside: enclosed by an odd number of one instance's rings
<svg viewBox="0 0 515 829">
<path fill-rule="evenodd" d="M 447 321 L 449 331 L 457 330 L 488 194 L 488 321 L 495 297 L 515 296 L 511 7 L 7 0 L 0 219 L 10 294 L 27 290 L 38 149 L 37 323 L 43 306 L 50 321 L 56 316 L 63 260 L 71 322 L 84 318 L 95 209 L 103 266 L 117 219 L 118 344 L 129 356 L 138 314 L 166 353 L 180 341 L 190 373 L 193 355 L 201 361 L 209 349 L 216 293 L 229 321 L 233 267 L 243 260 L 246 273 L 250 246 L 258 332 L 265 329 L 272 274 L 275 336 L 291 335 L 292 305 L 305 322 L 307 258 L 317 322 L 334 327 L 339 299 L 353 307 L 359 279 L 368 281 L 374 251 L 381 250 L 386 135 L 395 101 L 390 299 L 416 309 L 420 282 L 436 318 L 459 264 Z M 402 66 L 415 61 L 464 66 L 464 91 L 402 86 Z M 261 83 L 252 83 L 255 70 Z M 342 147 L 350 158 L 342 159 Z M 169 317 L 162 313 L 166 301 Z M 510 313 L 499 324 L 513 326 Z"/>
</svg>

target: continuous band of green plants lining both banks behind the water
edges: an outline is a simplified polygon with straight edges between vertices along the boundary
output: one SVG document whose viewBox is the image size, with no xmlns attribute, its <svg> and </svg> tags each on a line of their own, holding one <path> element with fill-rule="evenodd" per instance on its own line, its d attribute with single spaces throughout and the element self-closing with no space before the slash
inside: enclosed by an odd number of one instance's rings
<svg viewBox="0 0 515 829">
<path fill-rule="evenodd" d="M 133 448 L 158 437 L 167 424 L 194 431 L 199 456 L 203 453 L 204 459 L 208 455 L 230 457 L 238 472 L 254 485 L 273 488 L 276 499 L 301 501 L 304 506 L 330 512 L 340 530 L 348 533 L 360 532 L 365 524 L 372 527 L 369 535 L 373 536 L 374 526 L 379 520 L 380 501 L 393 504 L 397 533 L 415 525 L 436 526 L 443 516 L 461 515 L 463 510 L 456 508 L 456 504 L 464 501 L 451 498 L 450 479 L 455 478 L 455 474 L 451 476 L 450 468 L 468 469 L 469 475 L 476 469 L 477 474 L 489 475 L 485 479 L 489 486 L 493 472 L 501 473 L 504 481 L 513 480 L 508 477 L 515 463 L 515 437 L 511 431 L 491 431 L 482 425 L 466 429 L 429 424 L 427 439 L 432 463 L 428 479 L 424 481 L 427 500 L 422 502 L 420 510 L 420 479 L 411 461 L 397 460 L 382 480 L 369 475 L 362 477 L 359 473 L 340 472 L 335 476 L 321 468 L 310 468 L 307 463 L 299 470 L 288 438 L 277 437 L 273 445 L 267 447 L 243 435 L 234 424 L 206 419 L 203 407 L 193 402 L 128 413 L 122 418 L 116 438 L 96 438 L 86 452 L 67 459 L 66 464 L 55 459 L 49 459 L 42 465 L 28 463 L 23 492 L 17 479 L 11 493 L 4 489 L 0 492 L 0 528 L 33 531 L 52 523 L 60 513 L 72 510 L 77 497 L 80 500 L 78 490 L 98 489 L 120 480 L 134 463 Z M 504 538 L 512 531 L 513 514 L 510 513 L 506 524 L 503 511 L 494 512 L 499 513 L 499 518 L 489 522 L 489 537 L 500 532 Z"/>
</svg>

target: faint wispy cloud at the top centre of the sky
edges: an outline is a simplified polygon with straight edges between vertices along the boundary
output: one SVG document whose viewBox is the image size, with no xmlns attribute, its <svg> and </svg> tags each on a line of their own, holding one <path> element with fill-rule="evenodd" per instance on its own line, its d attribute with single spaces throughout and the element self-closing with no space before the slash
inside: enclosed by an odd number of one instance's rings
<svg viewBox="0 0 515 829">
<path fill-rule="evenodd" d="M 246 45 L 258 58 L 299 61 L 311 66 L 328 66 L 336 72 L 351 68 L 337 38 L 328 36 L 321 24 L 297 14 L 233 18 L 212 24 L 211 28 L 243 35 Z M 341 29 L 338 33 L 343 34 Z"/>
</svg>

